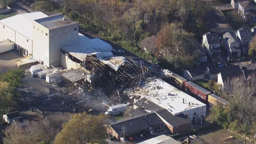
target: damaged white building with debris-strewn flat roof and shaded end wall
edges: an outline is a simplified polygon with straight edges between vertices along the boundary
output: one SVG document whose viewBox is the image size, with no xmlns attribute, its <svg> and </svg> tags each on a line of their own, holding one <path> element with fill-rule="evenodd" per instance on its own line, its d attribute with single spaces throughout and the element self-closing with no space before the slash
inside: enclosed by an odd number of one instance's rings
<svg viewBox="0 0 256 144">
<path fill-rule="evenodd" d="M 130 96 L 146 98 L 174 116 L 184 114 L 190 120 L 200 120 L 200 114 L 206 116 L 206 104 L 159 78 L 143 82 L 140 89 L 133 90 Z"/>
</svg>

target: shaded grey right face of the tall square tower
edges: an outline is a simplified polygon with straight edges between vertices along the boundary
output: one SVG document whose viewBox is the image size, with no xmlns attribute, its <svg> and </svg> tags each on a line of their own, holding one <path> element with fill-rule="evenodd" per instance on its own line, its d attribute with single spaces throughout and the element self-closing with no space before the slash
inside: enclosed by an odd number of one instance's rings
<svg viewBox="0 0 256 144">
<path fill-rule="evenodd" d="M 76 30 L 75 30 L 76 28 Z M 50 64 L 61 61 L 60 47 L 78 41 L 78 23 L 49 30 Z"/>
</svg>

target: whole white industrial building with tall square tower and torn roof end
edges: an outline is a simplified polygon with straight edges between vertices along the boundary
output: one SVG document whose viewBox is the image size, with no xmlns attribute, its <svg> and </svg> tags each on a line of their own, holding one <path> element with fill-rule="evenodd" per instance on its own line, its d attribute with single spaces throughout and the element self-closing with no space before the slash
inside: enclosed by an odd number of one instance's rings
<svg viewBox="0 0 256 144">
<path fill-rule="evenodd" d="M 64 68 L 79 68 L 88 54 L 112 50 L 110 44 L 99 38 L 90 39 L 78 33 L 78 22 L 63 14 L 47 16 L 42 12 L 0 20 L 0 41 L 3 40 L 10 40 L 24 56 L 31 55 L 48 67 L 58 62 Z M 78 60 L 70 56 L 78 56 Z"/>
</svg>

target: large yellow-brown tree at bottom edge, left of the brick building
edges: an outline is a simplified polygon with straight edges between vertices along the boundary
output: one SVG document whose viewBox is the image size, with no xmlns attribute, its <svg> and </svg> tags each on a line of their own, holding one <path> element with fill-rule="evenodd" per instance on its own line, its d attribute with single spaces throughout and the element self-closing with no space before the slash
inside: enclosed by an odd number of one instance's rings
<svg viewBox="0 0 256 144">
<path fill-rule="evenodd" d="M 104 118 L 102 114 L 75 114 L 69 122 L 63 124 L 63 129 L 56 136 L 54 144 L 106 144 Z"/>
</svg>

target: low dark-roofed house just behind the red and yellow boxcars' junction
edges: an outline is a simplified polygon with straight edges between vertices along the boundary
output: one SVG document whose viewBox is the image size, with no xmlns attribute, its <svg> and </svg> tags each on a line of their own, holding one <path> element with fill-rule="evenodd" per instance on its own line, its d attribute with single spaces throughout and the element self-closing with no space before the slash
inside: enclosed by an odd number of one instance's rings
<svg viewBox="0 0 256 144">
<path fill-rule="evenodd" d="M 190 81 L 202 79 L 204 78 L 205 74 L 206 70 L 204 68 L 195 68 L 192 70 L 183 71 L 183 77 Z"/>
</svg>

